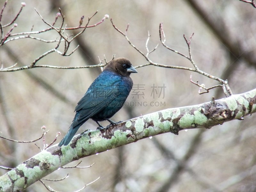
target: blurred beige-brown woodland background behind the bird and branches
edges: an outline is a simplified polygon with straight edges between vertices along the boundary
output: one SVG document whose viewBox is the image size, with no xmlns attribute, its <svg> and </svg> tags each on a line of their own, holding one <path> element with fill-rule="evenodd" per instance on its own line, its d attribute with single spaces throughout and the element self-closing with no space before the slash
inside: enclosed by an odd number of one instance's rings
<svg viewBox="0 0 256 192">
<path fill-rule="evenodd" d="M 4 5 L 0 0 L 0 7 Z M 20 0 L 9 1 L 4 9 L 2 24 L 13 20 L 21 6 Z M 25 1 L 26 2 L 26 1 Z M 146 0 L 146 1 L 28 1 L 15 23 L 12 33 L 29 32 L 47 28 L 34 8 L 52 23 L 61 8 L 67 27 L 79 25 L 82 15 L 84 24 L 89 16 L 99 11 L 90 25 L 99 22 L 105 14 L 113 19 L 116 27 L 141 51 L 145 43 L 153 49 L 159 40 L 159 23 L 163 22 L 166 44 L 188 55 L 183 34 L 192 33 L 192 56 L 197 66 L 217 77 L 228 79 L 234 94 L 243 93 L 256 85 L 256 8 L 239 0 Z M 59 18 L 56 27 L 60 26 Z M 4 34 L 11 28 L 4 28 Z M 66 31 L 69 35 L 80 30 Z M 45 40 L 58 38 L 55 31 L 33 35 Z M 100 59 L 128 58 L 133 66 L 147 61 L 134 50 L 111 25 L 110 19 L 94 28 L 87 28 L 72 43 L 70 51 L 78 50 L 69 57 L 54 52 L 37 64 L 54 66 L 83 66 L 100 63 Z M 4 67 L 30 65 L 56 43 L 44 43 L 33 39 L 11 41 L 0 48 L 0 60 Z M 64 44 L 60 45 L 63 51 Z M 156 63 L 193 67 L 180 55 L 170 52 L 159 44 L 149 55 Z M 132 74 L 134 88 L 123 107 L 113 118 L 124 121 L 133 117 L 165 108 L 200 104 L 225 97 L 221 88 L 199 95 L 198 87 L 189 82 L 191 72 L 154 66 L 138 68 Z M 52 69 L 33 68 L 17 72 L 0 73 L 0 131 L 1 135 L 16 140 L 33 140 L 42 134 L 41 127 L 50 130 L 46 143 L 51 143 L 56 132 L 61 132 L 59 142 L 68 131 L 74 117 L 76 103 L 100 73 L 100 68 Z M 218 82 L 193 73 L 193 80 L 210 87 Z M 156 87 L 153 91 L 153 87 Z M 161 88 L 164 87 L 165 88 Z M 162 92 L 161 92 L 162 89 Z M 153 94 L 155 93 L 155 95 Z M 145 105 L 132 107 L 131 101 Z M 152 105 L 149 105 L 152 102 Z M 161 105 L 162 103 L 162 105 Z M 104 122 L 104 125 L 107 123 Z M 78 131 L 96 129 L 97 124 L 87 121 Z M 48 175 L 45 181 L 57 191 L 76 191 L 100 177 L 83 191 L 255 191 L 256 190 L 256 119 L 255 114 L 244 121 L 234 120 L 210 130 L 191 129 L 179 135 L 166 133 L 152 139 L 140 140 L 98 155 L 82 159 L 79 166 L 87 169 L 60 169 Z M 40 147 L 43 141 L 36 141 Z M 13 143 L 0 140 L 2 166 L 15 167 L 39 153 L 34 143 Z M 79 161 L 78 161 L 79 162 Z M 78 162 L 72 162 L 75 165 Z M 1 175 L 6 171 L 0 170 Z M 46 191 L 36 182 L 25 191 Z"/>
</svg>

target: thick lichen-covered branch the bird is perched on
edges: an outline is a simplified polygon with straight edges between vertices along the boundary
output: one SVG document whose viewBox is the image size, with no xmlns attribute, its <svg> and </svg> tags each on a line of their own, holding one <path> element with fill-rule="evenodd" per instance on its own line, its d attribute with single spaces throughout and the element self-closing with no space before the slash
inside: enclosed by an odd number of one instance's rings
<svg viewBox="0 0 256 192">
<path fill-rule="evenodd" d="M 24 190 L 74 160 L 150 136 L 194 128 L 211 128 L 256 112 L 256 89 L 211 102 L 169 108 L 127 120 L 108 130 L 86 130 L 61 148 L 54 145 L 0 177 L 0 191 Z"/>
</svg>

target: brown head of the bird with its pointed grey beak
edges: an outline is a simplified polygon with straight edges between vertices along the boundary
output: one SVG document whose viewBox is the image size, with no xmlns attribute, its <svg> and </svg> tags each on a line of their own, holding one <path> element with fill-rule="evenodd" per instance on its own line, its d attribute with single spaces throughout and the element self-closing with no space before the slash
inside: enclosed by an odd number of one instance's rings
<svg viewBox="0 0 256 192">
<path fill-rule="evenodd" d="M 131 73 L 138 73 L 137 70 L 132 67 L 131 62 L 123 57 L 110 61 L 104 70 L 114 71 L 121 76 L 130 76 Z"/>
</svg>

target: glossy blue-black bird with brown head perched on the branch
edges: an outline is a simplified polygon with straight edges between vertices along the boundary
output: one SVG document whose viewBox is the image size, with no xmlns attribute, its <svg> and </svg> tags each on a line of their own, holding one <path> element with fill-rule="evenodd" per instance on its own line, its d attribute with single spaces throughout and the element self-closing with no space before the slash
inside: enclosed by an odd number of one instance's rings
<svg viewBox="0 0 256 192">
<path fill-rule="evenodd" d="M 99 125 L 97 129 L 104 129 L 99 121 L 107 120 L 110 124 L 106 128 L 120 123 L 109 118 L 123 107 L 132 90 L 131 73 L 138 72 L 131 62 L 123 57 L 113 59 L 106 65 L 78 101 L 75 108 L 76 115 L 67 134 L 58 144 L 59 147 L 68 145 L 79 127 L 90 118 Z"/>
</svg>

